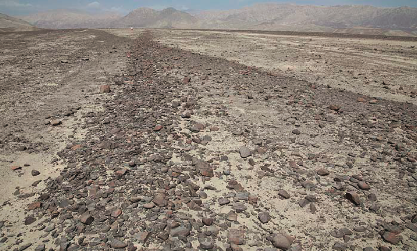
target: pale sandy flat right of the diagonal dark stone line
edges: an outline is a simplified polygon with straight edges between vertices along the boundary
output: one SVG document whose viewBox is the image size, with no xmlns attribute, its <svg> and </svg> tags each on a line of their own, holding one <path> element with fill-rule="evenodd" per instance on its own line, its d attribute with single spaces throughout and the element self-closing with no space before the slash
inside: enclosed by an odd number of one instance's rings
<svg viewBox="0 0 417 251">
<path fill-rule="evenodd" d="M 412 38 L 163 29 L 153 32 L 156 41 L 175 48 L 225 58 L 317 85 L 417 104 L 417 48 Z"/>
</svg>

